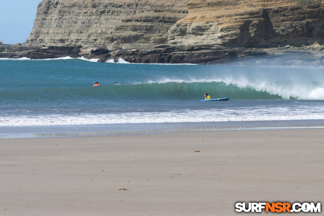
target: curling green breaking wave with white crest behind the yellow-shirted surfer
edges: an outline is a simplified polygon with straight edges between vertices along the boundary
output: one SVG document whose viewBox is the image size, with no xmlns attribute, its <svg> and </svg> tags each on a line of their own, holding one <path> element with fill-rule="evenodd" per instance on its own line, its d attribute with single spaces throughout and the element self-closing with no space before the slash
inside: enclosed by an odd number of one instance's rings
<svg viewBox="0 0 324 216">
<path fill-rule="evenodd" d="M 87 87 L 43 87 L 29 89 L 0 89 L 1 99 L 58 101 L 60 99 L 117 99 L 127 95 L 128 99 L 202 99 L 207 92 L 212 98 L 228 97 L 231 100 L 300 99 L 324 100 L 324 86 L 320 83 L 294 85 L 282 83 L 245 83 L 234 81 L 184 82 L 183 80 L 148 83 L 104 85 Z"/>
</svg>

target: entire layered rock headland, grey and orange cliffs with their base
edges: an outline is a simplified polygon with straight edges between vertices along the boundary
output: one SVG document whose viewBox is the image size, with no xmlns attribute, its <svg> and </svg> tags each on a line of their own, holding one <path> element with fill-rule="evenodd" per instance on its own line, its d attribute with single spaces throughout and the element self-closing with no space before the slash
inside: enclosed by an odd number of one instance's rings
<svg viewBox="0 0 324 216">
<path fill-rule="evenodd" d="M 101 61 L 208 64 L 324 44 L 323 14 L 320 0 L 43 0 L 19 46 L 64 54 L 79 46 L 78 56 Z"/>
</svg>

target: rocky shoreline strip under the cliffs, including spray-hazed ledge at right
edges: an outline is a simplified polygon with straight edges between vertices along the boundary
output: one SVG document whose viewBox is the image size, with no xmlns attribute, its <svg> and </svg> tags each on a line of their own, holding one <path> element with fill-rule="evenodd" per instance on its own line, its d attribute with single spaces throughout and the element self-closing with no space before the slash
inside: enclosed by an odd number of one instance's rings
<svg viewBox="0 0 324 216">
<path fill-rule="evenodd" d="M 86 49 L 82 46 L 29 46 L 24 44 L 0 44 L 0 58 L 85 58 L 98 62 L 129 62 L 145 64 L 221 64 L 260 57 L 281 57 L 290 54 L 295 59 L 321 61 L 323 52 L 312 45 L 303 47 L 223 47 L 223 46 L 175 46 L 165 45 L 153 49 Z M 122 60 L 121 60 L 122 59 Z"/>
</svg>

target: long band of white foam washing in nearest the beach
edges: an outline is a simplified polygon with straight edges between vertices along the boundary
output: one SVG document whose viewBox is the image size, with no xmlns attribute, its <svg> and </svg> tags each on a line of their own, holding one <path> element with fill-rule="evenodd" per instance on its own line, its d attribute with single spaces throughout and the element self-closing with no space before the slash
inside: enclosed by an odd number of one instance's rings
<svg viewBox="0 0 324 216">
<path fill-rule="evenodd" d="M 123 114 L 83 114 L 83 115 L 38 115 L 7 116 L 0 118 L 0 126 L 53 126 L 53 125 L 94 125 L 94 124 L 134 124 L 134 123 L 184 123 L 184 122 L 229 122 L 229 121 L 276 121 L 324 119 L 324 108 L 299 107 L 259 107 L 211 110 L 179 110 L 164 113 L 123 113 Z"/>
</svg>

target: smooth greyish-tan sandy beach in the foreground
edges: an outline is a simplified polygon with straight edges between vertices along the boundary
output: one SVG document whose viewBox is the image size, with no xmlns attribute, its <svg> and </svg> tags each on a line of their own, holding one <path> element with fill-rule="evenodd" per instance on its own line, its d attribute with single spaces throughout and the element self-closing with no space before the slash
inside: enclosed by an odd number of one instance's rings
<svg viewBox="0 0 324 216">
<path fill-rule="evenodd" d="M 0 215 L 237 215 L 236 202 L 321 202 L 323 132 L 0 139 Z"/>
</svg>

